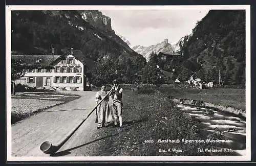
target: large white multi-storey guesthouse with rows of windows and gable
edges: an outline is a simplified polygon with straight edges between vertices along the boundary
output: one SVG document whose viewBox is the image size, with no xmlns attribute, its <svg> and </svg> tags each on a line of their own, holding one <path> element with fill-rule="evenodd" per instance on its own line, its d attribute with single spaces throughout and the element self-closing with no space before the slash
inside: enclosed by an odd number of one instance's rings
<svg viewBox="0 0 256 166">
<path fill-rule="evenodd" d="M 15 84 L 57 90 L 86 90 L 87 66 L 72 52 L 63 55 L 12 55 L 27 72 Z"/>
</svg>

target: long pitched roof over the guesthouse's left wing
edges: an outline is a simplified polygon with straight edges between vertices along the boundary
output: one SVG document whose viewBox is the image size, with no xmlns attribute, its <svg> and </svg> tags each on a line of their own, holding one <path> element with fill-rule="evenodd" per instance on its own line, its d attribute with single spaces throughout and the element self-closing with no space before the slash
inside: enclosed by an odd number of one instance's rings
<svg viewBox="0 0 256 166">
<path fill-rule="evenodd" d="M 60 55 L 12 55 L 11 59 L 20 61 L 21 65 L 26 66 L 49 66 Z"/>
</svg>

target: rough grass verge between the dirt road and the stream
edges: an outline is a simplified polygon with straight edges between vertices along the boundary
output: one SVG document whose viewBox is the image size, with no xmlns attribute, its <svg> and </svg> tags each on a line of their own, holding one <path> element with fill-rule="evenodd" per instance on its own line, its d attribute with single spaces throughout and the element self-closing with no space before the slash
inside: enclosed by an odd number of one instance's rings
<svg viewBox="0 0 256 166">
<path fill-rule="evenodd" d="M 97 156 L 199 156 L 230 155 L 230 153 L 199 152 L 218 146 L 215 143 L 182 143 L 182 139 L 222 139 L 217 133 L 200 131 L 195 118 L 175 107 L 156 90 L 125 90 L 123 93 L 123 128 L 113 125 L 99 129 Z M 158 140 L 178 140 L 179 143 L 159 143 Z M 164 152 L 165 151 L 165 152 Z M 177 151 L 177 152 L 175 152 Z M 235 154 L 233 154 L 235 155 Z"/>
</svg>

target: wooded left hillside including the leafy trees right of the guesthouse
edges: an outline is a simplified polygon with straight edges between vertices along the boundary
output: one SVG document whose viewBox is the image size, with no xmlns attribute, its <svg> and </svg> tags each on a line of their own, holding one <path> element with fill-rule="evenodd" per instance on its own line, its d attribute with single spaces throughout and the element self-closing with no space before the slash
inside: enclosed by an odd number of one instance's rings
<svg viewBox="0 0 256 166">
<path fill-rule="evenodd" d="M 132 83 L 145 58 L 133 51 L 111 28 L 111 18 L 98 10 L 12 11 L 12 54 L 61 55 L 74 48 L 79 58 L 96 62 L 94 84 Z"/>
</svg>

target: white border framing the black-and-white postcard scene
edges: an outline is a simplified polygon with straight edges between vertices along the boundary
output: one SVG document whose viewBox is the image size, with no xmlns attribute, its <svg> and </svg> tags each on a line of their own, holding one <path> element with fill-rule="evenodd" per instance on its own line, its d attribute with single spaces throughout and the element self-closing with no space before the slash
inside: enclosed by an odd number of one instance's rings
<svg viewBox="0 0 256 166">
<path fill-rule="evenodd" d="M 13 157 L 11 156 L 11 11 L 12 10 L 246 10 L 246 155 L 245 156 L 106 156 L 106 157 Z M 251 85 L 250 85 L 250 5 L 200 6 L 6 6 L 6 98 L 7 161 L 250 161 Z"/>
</svg>

